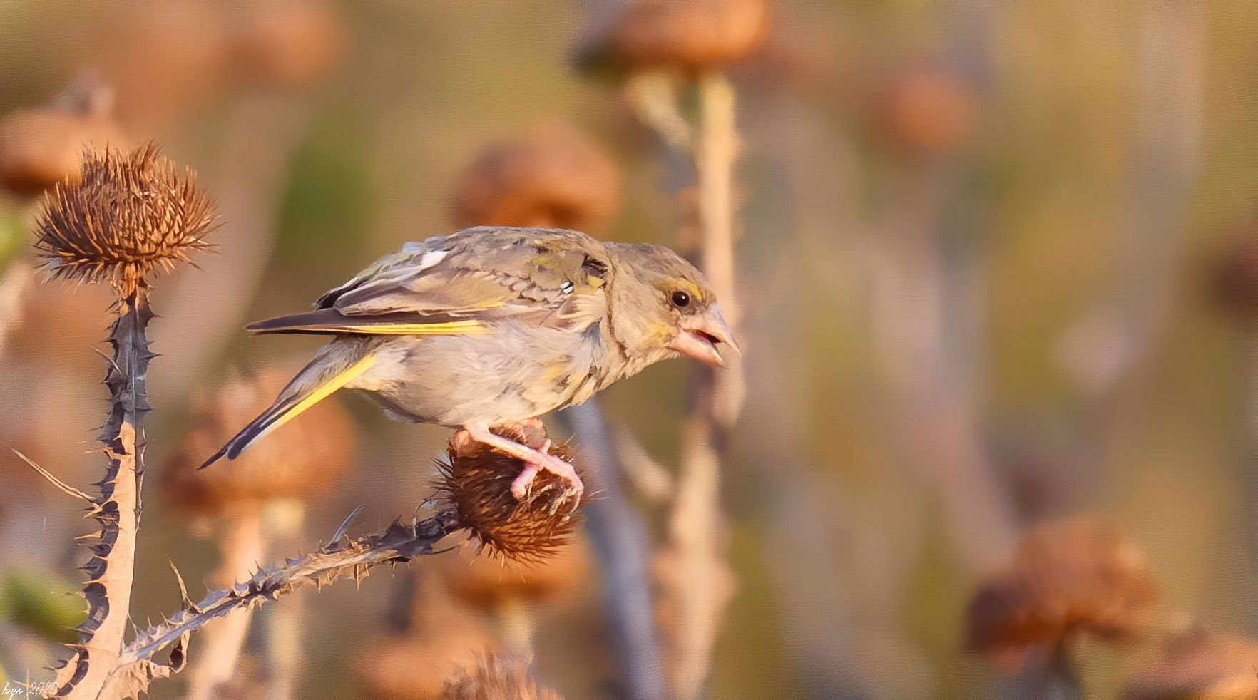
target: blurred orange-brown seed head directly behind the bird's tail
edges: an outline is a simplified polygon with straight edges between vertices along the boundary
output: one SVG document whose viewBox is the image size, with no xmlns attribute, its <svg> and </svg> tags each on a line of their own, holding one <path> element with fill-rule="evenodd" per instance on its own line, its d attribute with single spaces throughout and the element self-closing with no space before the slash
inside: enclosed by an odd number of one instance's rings
<svg viewBox="0 0 1258 700">
<path fill-rule="evenodd" d="M 323 401 L 250 445 L 238 459 L 198 469 L 242 426 L 270 406 L 291 372 L 273 367 L 237 376 L 200 396 L 191 430 L 162 469 L 161 488 L 180 508 L 220 514 L 234 505 L 327 493 L 351 465 L 355 432 L 346 412 Z"/>
</svg>

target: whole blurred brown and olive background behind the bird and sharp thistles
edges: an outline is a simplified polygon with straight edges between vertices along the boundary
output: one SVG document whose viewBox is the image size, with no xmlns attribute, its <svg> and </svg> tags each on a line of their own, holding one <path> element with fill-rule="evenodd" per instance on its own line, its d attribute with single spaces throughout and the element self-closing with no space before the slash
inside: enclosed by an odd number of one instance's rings
<svg viewBox="0 0 1258 700">
<path fill-rule="evenodd" d="M 1253 697 L 1255 45 L 1247 1 L 0 0 L 0 675 L 64 656 L 89 530 L 10 447 L 102 466 L 111 294 L 42 283 L 29 225 L 152 138 L 223 226 L 153 294 L 137 623 L 167 558 L 195 598 L 431 494 L 449 431 L 353 396 L 191 475 L 321 344 L 244 324 L 404 241 L 711 265 L 728 216 L 745 349 L 555 422 L 604 498 L 550 563 L 302 591 L 155 697 L 437 697 L 486 656 L 567 697 Z"/>
</svg>

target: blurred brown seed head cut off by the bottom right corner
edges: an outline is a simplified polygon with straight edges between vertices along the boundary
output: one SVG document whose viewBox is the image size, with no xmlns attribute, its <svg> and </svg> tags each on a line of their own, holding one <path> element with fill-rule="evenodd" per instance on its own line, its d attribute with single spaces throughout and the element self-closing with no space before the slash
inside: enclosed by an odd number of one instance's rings
<svg viewBox="0 0 1258 700">
<path fill-rule="evenodd" d="M 1136 674 L 1123 700 L 1253 700 L 1258 642 L 1194 630 L 1171 641 L 1160 661 Z"/>
</svg>

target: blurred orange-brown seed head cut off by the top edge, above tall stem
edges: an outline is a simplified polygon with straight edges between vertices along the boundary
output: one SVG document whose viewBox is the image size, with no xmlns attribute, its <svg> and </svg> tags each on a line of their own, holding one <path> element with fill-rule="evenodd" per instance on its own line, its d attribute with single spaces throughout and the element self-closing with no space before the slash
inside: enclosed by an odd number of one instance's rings
<svg viewBox="0 0 1258 700">
<path fill-rule="evenodd" d="M 720 68 L 757 49 L 771 25 L 767 0 L 625 0 L 595 13 L 576 58 L 589 72 Z"/>
</svg>

